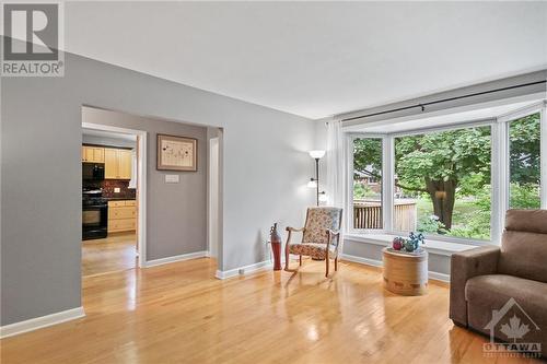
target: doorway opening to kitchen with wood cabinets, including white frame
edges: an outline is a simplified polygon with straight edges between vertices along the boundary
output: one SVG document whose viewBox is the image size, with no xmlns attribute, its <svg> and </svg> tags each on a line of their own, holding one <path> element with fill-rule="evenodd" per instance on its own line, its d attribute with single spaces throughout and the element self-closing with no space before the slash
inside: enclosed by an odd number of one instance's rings
<svg viewBox="0 0 547 364">
<path fill-rule="evenodd" d="M 93 121 L 82 109 L 83 277 L 142 267 L 146 256 L 147 132 Z"/>
</svg>

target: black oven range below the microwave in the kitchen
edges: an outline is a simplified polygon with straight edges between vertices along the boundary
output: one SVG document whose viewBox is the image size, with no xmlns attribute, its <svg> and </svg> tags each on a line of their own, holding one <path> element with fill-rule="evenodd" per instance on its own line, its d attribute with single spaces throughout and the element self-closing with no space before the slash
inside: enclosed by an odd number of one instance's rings
<svg viewBox="0 0 547 364">
<path fill-rule="evenodd" d="M 82 198 L 82 239 L 105 238 L 108 234 L 108 202 L 95 191 Z"/>
</svg>

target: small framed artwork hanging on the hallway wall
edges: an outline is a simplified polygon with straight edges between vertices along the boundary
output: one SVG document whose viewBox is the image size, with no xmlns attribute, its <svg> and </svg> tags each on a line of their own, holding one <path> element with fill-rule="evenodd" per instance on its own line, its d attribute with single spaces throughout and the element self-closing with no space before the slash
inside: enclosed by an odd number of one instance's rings
<svg viewBox="0 0 547 364">
<path fill-rule="evenodd" d="M 198 171 L 198 141 L 158 134 L 158 171 Z"/>
</svg>

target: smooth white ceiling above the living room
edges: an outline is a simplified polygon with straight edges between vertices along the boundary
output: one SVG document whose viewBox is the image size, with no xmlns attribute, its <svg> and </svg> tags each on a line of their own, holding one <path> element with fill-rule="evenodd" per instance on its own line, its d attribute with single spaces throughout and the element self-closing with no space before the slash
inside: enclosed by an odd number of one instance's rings
<svg viewBox="0 0 547 364">
<path fill-rule="evenodd" d="M 547 2 L 67 2 L 69 51 L 334 114 L 547 68 Z"/>
</svg>

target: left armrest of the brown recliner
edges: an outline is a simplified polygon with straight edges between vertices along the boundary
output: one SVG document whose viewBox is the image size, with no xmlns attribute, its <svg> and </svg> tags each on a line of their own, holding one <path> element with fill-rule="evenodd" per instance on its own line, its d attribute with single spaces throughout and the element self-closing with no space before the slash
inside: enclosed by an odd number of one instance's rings
<svg viewBox="0 0 547 364">
<path fill-rule="evenodd" d="M 500 248 L 485 246 L 455 253 L 451 258 L 450 269 L 450 318 L 462 326 L 467 326 L 467 302 L 465 284 L 477 275 L 494 274 L 498 269 Z"/>
</svg>

